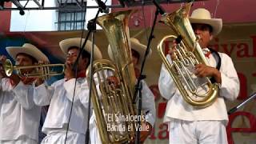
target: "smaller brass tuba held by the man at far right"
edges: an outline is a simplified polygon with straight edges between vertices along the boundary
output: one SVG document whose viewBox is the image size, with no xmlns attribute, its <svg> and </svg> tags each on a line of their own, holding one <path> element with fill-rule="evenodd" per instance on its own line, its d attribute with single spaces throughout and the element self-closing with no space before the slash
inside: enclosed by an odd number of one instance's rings
<svg viewBox="0 0 256 144">
<path fill-rule="evenodd" d="M 158 44 L 158 53 L 183 99 L 192 106 L 206 107 L 210 106 L 218 97 L 219 89 L 217 83 L 210 82 L 210 78 L 198 78 L 194 75 L 196 64 L 202 63 L 207 66 L 209 64 L 190 25 L 188 15 L 191 5 L 192 2 L 161 18 L 161 22 L 170 26 L 177 36 L 168 35 L 162 38 Z M 172 42 L 178 36 L 181 36 L 182 41 L 175 46 L 175 56 L 170 64 L 162 50 L 162 45 L 166 40 Z"/>
</svg>

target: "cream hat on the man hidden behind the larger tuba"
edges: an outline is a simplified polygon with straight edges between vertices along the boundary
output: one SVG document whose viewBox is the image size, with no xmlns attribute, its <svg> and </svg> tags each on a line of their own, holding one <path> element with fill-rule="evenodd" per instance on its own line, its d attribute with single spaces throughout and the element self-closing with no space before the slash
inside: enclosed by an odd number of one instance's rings
<svg viewBox="0 0 256 144">
<path fill-rule="evenodd" d="M 143 45 L 141 42 L 138 41 L 138 39 L 136 38 L 130 38 L 130 47 L 132 50 L 135 50 L 138 52 L 139 54 L 139 59 L 138 59 L 138 66 L 142 65 L 142 60 L 144 58 L 144 55 L 146 53 L 146 46 Z M 112 50 L 110 48 L 110 45 L 108 46 L 107 52 L 110 56 L 110 59 L 113 61 L 113 55 L 112 55 Z M 152 54 L 152 50 L 150 49 L 149 54 L 147 54 L 147 58 L 150 57 L 150 55 Z"/>
</svg>

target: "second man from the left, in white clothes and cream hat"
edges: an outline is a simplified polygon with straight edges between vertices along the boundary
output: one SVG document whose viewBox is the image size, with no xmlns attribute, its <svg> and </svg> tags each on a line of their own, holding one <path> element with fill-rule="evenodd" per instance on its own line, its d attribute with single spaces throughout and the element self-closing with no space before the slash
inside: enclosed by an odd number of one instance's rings
<svg viewBox="0 0 256 144">
<path fill-rule="evenodd" d="M 66 55 L 65 78 L 51 86 L 44 83 L 35 88 L 35 102 L 39 106 L 49 105 L 42 132 L 46 138 L 42 143 L 84 143 L 86 134 L 89 86 L 86 82 L 86 68 L 90 64 L 92 43 L 86 42 L 82 57 L 78 60 L 77 70 L 74 62 L 84 38 L 68 38 L 59 42 Z M 94 59 L 102 58 L 97 46 L 94 46 Z M 75 74 L 77 71 L 77 75 Z M 74 90 L 75 89 L 75 90 Z"/>
</svg>

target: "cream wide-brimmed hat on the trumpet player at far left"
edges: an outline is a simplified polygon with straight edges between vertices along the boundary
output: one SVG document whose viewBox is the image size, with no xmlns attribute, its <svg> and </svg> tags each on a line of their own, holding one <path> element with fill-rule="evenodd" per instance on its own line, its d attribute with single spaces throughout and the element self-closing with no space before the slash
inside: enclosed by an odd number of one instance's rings
<svg viewBox="0 0 256 144">
<path fill-rule="evenodd" d="M 6 50 L 14 60 L 16 59 L 17 54 L 23 53 L 30 55 L 38 61 L 49 62 L 46 55 L 43 54 L 42 51 L 38 50 L 36 46 L 30 43 L 25 43 L 23 46 L 8 46 L 6 47 Z"/>
</svg>

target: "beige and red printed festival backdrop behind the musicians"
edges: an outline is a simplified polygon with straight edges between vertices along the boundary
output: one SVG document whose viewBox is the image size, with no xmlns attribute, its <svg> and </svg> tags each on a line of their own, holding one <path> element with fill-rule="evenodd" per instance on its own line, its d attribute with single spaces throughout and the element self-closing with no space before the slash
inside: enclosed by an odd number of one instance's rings
<svg viewBox="0 0 256 144">
<path fill-rule="evenodd" d="M 226 102 L 227 110 L 237 106 L 256 91 L 256 24 L 229 24 L 224 25 L 222 33 L 218 38 L 214 38 L 212 47 L 216 50 L 229 54 L 234 61 L 234 66 L 238 71 L 241 82 L 241 91 L 237 100 Z M 166 101 L 161 97 L 158 91 L 158 77 L 162 61 L 158 56 L 156 46 L 158 42 L 167 34 L 170 29 L 166 26 L 158 26 L 154 31 L 155 38 L 151 44 L 153 54 L 146 60 L 146 82 L 154 93 L 157 118 L 154 125 L 154 131 L 146 140 L 146 143 L 167 143 L 168 129 L 162 122 L 165 113 Z M 64 56 L 59 49 L 58 42 L 65 38 L 81 37 L 81 31 L 75 32 L 41 32 L 41 33 L 7 33 L 0 38 L 1 54 L 6 54 L 6 46 L 22 46 L 23 42 L 31 42 L 38 46 L 45 54 L 50 57 L 53 63 L 63 62 Z M 130 36 L 138 38 L 146 45 L 146 35 L 150 34 L 147 30 L 130 30 Z M 102 31 L 95 34 L 96 44 L 102 50 L 104 58 L 107 56 L 108 42 Z M 168 42 L 166 42 L 168 44 Z M 54 82 L 53 79 L 51 82 Z M 255 99 L 246 103 L 240 110 L 230 115 L 230 122 L 227 128 L 227 134 L 230 143 L 255 143 L 256 138 L 256 118 L 255 118 Z"/>
</svg>

